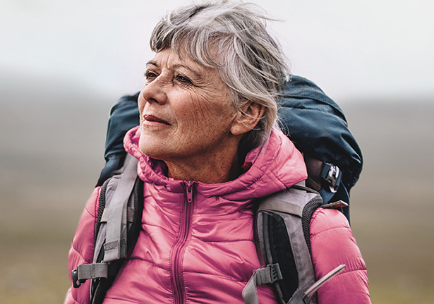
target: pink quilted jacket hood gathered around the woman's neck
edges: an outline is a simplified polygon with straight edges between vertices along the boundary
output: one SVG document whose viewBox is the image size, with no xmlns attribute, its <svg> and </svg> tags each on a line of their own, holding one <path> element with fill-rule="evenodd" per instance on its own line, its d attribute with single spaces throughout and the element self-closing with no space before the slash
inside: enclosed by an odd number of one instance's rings
<svg viewBox="0 0 434 304">
<path fill-rule="evenodd" d="M 123 140 L 126 152 L 139 160 L 138 176 L 145 182 L 181 193 L 185 181 L 164 176 L 166 164 L 140 152 L 139 138 L 140 126 L 137 126 L 129 130 Z M 197 183 L 197 191 L 207 197 L 219 196 L 226 200 L 245 201 L 276 193 L 307 178 L 303 156 L 280 131 L 273 130 L 269 140 L 248 152 L 245 164 L 250 168 L 234 181 Z"/>
</svg>

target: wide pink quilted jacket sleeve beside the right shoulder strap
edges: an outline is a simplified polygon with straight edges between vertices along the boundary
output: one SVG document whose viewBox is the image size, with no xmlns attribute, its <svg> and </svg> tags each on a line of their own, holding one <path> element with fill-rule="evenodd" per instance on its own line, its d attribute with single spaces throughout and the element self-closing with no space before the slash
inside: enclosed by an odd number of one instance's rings
<svg viewBox="0 0 434 304">
<path fill-rule="evenodd" d="M 316 279 L 346 265 L 318 290 L 319 304 L 370 303 L 366 265 L 344 214 L 318 208 L 311 219 L 311 250 Z"/>
</svg>

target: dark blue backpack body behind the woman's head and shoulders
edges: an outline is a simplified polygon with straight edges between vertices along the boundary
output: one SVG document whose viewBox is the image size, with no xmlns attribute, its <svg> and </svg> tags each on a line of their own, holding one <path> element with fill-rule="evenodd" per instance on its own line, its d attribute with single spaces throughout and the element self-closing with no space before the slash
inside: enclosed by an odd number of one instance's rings
<svg viewBox="0 0 434 304">
<path fill-rule="evenodd" d="M 139 124 L 138 95 L 123 96 L 111 108 L 106 165 L 97 186 L 102 186 L 123 165 L 123 136 Z M 315 83 L 291 75 L 277 114 L 282 130 L 303 153 L 308 169 L 306 186 L 320 193 L 323 204 L 342 200 L 349 205 L 349 191 L 358 181 L 363 159 L 342 109 Z M 350 221 L 349 206 L 340 209 Z"/>
</svg>

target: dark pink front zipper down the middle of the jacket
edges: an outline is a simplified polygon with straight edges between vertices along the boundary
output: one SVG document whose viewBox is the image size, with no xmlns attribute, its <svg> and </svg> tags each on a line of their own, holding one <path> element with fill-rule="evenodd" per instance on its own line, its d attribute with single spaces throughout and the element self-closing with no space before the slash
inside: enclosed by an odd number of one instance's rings
<svg viewBox="0 0 434 304">
<path fill-rule="evenodd" d="M 191 214 L 193 214 L 193 188 L 195 183 L 193 181 L 184 181 L 185 197 L 186 200 L 183 204 L 183 212 L 181 212 L 181 227 L 179 229 L 178 239 L 174 244 L 172 255 L 171 273 L 174 286 L 174 299 L 175 304 L 184 303 L 184 284 L 182 277 L 183 254 L 186 249 L 186 241 L 190 232 Z"/>
</svg>

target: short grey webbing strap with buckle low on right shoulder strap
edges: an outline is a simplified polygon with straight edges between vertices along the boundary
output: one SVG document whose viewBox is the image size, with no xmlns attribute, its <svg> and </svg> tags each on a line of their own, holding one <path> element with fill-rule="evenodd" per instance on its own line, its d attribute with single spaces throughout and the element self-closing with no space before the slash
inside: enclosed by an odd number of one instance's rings
<svg viewBox="0 0 434 304">
<path fill-rule="evenodd" d="M 246 304 L 259 304 L 256 286 L 274 283 L 283 279 L 279 264 L 267 265 L 267 267 L 253 271 L 251 278 L 243 289 L 243 300 Z"/>
</svg>

